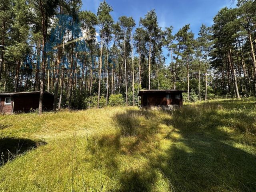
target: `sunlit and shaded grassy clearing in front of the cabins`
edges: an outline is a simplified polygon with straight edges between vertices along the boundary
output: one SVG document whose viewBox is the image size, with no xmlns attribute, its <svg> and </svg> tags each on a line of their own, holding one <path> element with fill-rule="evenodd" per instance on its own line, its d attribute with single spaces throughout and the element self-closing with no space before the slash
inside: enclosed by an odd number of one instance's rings
<svg viewBox="0 0 256 192">
<path fill-rule="evenodd" d="M 256 191 L 255 101 L 0 116 L 0 191 Z"/>
</svg>

